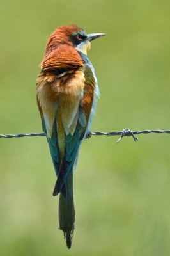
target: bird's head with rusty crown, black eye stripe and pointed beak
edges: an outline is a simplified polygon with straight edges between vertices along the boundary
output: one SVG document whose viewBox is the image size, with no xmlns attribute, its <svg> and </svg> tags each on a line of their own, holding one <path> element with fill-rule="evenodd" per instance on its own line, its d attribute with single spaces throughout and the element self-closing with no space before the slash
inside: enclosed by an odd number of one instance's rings
<svg viewBox="0 0 170 256">
<path fill-rule="evenodd" d="M 91 41 L 104 35 L 104 33 L 86 34 L 84 29 L 79 28 L 76 25 L 61 26 L 50 36 L 47 42 L 47 51 L 54 50 L 54 48 L 59 47 L 61 44 L 65 44 L 70 45 L 77 49 L 77 51 L 81 51 L 87 55 L 91 46 Z"/>
</svg>

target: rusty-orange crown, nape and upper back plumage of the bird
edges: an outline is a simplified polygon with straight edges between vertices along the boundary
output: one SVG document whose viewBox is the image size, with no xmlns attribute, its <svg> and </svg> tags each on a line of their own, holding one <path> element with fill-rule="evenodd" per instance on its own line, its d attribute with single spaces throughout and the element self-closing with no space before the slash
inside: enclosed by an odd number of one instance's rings
<svg viewBox="0 0 170 256">
<path fill-rule="evenodd" d="M 40 64 L 43 70 L 76 70 L 83 66 L 81 56 L 70 41 L 70 36 L 75 31 L 82 29 L 75 25 L 61 26 L 50 35 Z"/>
</svg>

